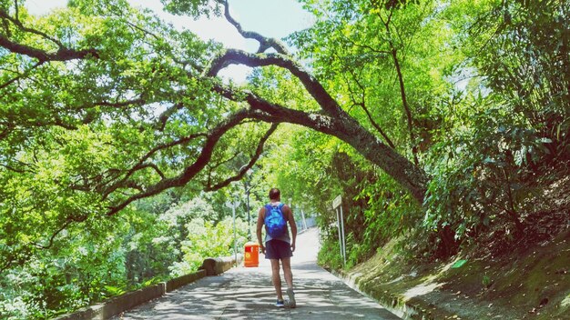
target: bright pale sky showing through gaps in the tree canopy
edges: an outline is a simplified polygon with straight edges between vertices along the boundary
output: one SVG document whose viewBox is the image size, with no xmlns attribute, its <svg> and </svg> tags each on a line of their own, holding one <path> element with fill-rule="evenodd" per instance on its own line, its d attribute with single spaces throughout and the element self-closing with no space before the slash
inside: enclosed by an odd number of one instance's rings
<svg viewBox="0 0 570 320">
<path fill-rule="evenodd" d="M 189 29 L 203 39 L 215 39 L 227 47 L 242 50 L 257 49 L 256 41 L 242 38 L 223 18 L 194 21 L 188 17 L 164 13 L 159 0 L 129 0 L 129 2 L 134 6 L 150 8 L 179 29 Z M 66 6 L 66 3 L 67 0 L 26 0 L 25 6 L 31 14 L 43 15 L 55 7 Z M 279 39 L 310 26 L 312 21 L 310 15 L 302 10 L 296 0 L 229 0 L 229 10 L 244 30 L 256 31 L 261 35 Z M 242 82 L 248 71 L 247 67 L 232 65 L 220 75 Z"/>
</svg>

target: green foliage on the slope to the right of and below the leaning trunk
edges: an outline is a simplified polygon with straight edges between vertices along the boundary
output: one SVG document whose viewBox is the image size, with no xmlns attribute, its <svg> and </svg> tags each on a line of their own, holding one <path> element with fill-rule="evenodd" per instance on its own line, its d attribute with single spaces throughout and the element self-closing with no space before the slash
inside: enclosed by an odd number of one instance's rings
<svg viewBox="0 0 570 320">
<path fill-rule="evenodd" d="M 347 216 L 349 266 L 402 234 L 430 239 L 409 248 L 432 258 L 453 255 L 492 225 L 506 224 L 504 241 L 524 236 L 522 220 L 540 197 L 537 181 L 556 167 L 567 174 L 568 3 L 308 1 L 306 7 L 320 18 L 290 37 L 304 48 L 301 56 L 351 115 L 431 179 L 418 208 L 390 177 L 361 177 L 361 184 L 334 179 L 360 174 L 347 167 L 350 160 L 335 161 L 338 155 L 321 159 L 333 171 L 325 185 L 348 200 L 345 212 L 366 218 L 351 225 Z M 358 156 L 351 159 L 366 170 Z M 321 199 L 330 204 L 334 196 Z M 341 267 L 338 234 L 328 235 L 321 262 Z"/>
</svg>

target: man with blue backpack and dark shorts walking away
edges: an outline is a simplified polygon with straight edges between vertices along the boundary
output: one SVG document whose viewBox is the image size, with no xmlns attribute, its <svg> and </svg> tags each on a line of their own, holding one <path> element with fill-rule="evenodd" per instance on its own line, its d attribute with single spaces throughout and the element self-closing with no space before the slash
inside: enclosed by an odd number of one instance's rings
<svg viewBox="0 0 570 320">
<path fill-rule="evenodd" d="M 293 273 L 291 272 L 290 257 L 295 251 L 295 239 L 297 238 L 297 225 L 293 212 L 288 205 L 280 203 L 280 190 L 270 190 L 270 203 L 260 209 L 258 215 L 257 235 L 261 252 L 271 262 L 271 279 L 277 294 L 277 306 L 285 306 L 283 293 L 281 292 L 280 263 L 283 265 L 283 275 L 287 283 L 287 306 L 297 306 L 295 293 L 293 292 Z M 265 241 L 261 241 L 261 229 L 265 225 Z M 290 234 L 287 228 L 290 226 Z"/>
</svg>

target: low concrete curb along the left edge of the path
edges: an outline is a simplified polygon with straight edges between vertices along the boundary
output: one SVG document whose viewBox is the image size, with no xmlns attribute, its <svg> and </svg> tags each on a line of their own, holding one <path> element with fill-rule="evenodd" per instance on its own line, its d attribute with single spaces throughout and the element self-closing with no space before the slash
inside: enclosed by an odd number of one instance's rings
<svg viewBox="0 0 570 320">
<path fill-rule="evenodd" d="M 238 255 L 237 265 L 243 261 L 243 255 Z M 232 265 L 236 264 L 234 257 L 208 258 L 204 260 L 198 271 L 188 275 L 178 276 L 167 282 L 158 285 L 149 285 L 145 288 L 131 291 L 123 295 L 117 295 L 104 303 L 89 305 L 78 309 L 76 312 L 66 315 L 59 315 L 55 320 L 88 320 L 88 319 L 108 319 L 119 315 L 137 305 L 147 303 L 161 295 L 178 289 L 182 285 L 188 285 L 207 275 L 220 275 L 228 271 Z"/>
</svg>

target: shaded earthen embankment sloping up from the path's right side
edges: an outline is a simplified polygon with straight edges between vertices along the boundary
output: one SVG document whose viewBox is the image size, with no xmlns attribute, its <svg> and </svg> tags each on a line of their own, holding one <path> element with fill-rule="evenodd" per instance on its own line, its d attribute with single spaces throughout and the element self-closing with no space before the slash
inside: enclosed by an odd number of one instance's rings
<svg viewBox="0 0 570 320">
<path fill-rule="evenodd" d="M 570 231 L 502 257 L 406 261 L 385 245 L 337 273 L 404 319 L 570 319 Z"/>
</svg>

